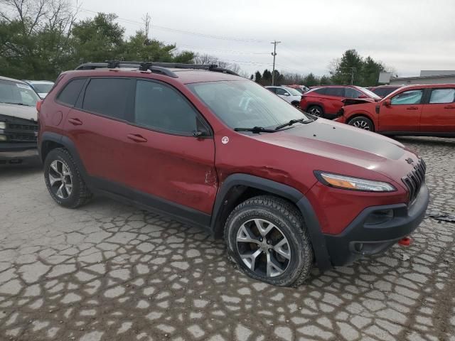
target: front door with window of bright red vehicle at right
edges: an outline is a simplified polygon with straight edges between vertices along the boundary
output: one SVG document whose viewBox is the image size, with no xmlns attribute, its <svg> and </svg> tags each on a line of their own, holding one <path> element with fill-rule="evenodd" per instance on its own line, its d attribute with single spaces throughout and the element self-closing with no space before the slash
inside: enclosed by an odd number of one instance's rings
<svg viewBox="0 0 455 341">
<path fill-rule="evenodd" d="M 389 107 L 382 101 L 377 130 L 418 132 L 423 93 L 423 89 L 412 89 L 395 94 Z"/>
</svg>

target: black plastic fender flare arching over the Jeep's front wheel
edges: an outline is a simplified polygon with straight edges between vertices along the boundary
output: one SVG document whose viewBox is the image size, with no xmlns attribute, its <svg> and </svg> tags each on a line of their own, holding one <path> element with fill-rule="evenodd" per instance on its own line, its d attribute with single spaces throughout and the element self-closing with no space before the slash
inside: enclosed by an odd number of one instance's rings
<svg viewBox="0 0 455 341">
<path fill-rule="evenodd" d="M 240 188 L 240 190 L 239 190 Z M 230 200 L 235 200 L 240 197 L 245 190 L 242 188 L 254 188 L 263 190 L 267 193 L 272 193 L 293 202 L 299 208 L 301 215 L 304 217 L 306 228 L 309 232 L 311 244 L 314 249 L 316 263 L 321 271 L 331 269 L 332 264 L 328 254 L 326 238 L 321 230 L 318 217 L 314 212 L 311 202 L 295 188 L 276 181 L 259 178 L 255 175 L 235 173 L 229 175 L 223 181 L 223 184 L 218 190 L 213 206 L 212 220 L 210 221 L 210 229 L 215 234 L 217 229 L 223 228 L 220 225 L 223 223 L 223 208 L 228 205 Z"/>
</svg>

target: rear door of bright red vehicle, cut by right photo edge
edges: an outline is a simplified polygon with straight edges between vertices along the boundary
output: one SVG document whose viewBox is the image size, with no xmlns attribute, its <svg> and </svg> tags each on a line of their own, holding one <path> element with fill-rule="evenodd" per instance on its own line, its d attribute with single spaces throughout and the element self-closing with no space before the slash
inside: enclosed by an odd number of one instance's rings
<svg viewBox="0 0 455 341">
<path fill-rule="evenodd" d="M 455 133 L 455 88 L 428 89 L 423 104 L 420 131 Z"/>
</svg>

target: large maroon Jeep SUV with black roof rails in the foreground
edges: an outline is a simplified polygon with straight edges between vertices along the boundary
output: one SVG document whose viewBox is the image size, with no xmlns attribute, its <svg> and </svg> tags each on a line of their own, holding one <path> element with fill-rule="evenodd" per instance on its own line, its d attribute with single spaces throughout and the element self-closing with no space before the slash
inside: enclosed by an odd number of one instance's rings
<svg viewBox="0 0 455 341">
<path fill-rule="evenodd" d="M 277 286 L 383 251 L 422 221 L 425 163 L 402 144 L 215 65 L 122 63 L 63 72 L 41 103 L 59 205 L 107 195 L 207 229 Z"/>
</svg>

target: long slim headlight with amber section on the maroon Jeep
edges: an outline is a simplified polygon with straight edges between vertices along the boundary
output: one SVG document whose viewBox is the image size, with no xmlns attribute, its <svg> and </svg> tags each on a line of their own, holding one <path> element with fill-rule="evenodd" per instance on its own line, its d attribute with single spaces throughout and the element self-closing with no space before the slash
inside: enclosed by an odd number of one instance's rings
<svg viewBox="0 0 455 341">
<path fill-rule="evenodd" d="M 393 192 L 397 190 L 390 183 L 383 183 L 382 181 L 352 178 L 346 175 L 325 172 L 315 172 L 315 174 L 324 185 L 343 188 L 344 190 L 363 190 L 365 192 Z"/>
</svg>

